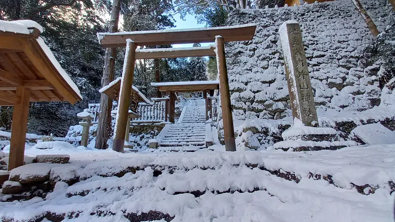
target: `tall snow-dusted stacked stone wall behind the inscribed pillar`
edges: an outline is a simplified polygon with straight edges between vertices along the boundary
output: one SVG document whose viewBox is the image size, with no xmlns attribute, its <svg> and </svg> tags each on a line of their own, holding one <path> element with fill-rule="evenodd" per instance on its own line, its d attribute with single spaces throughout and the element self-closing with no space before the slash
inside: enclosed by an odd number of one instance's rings
<svg viewBox="0 0 395 222">
<path fill-rule="evenodd" d="M 383 31 L 388 0 L 361 2 Z M 254 23 L 257 29 L 252 41 L 226 44 L 235 127 L 246 120 L 292 116 L 278 34 L 287 20 L 302 29 L 318 116 L 328 109 L 363 111 L 380 104 L 380 67 L 368 64 L 363 53 L 373 36 L 351 0 L 236 10 L 228 25 Z M 221 138 L 222 120 L 218 128 Z"/>
</svg>

